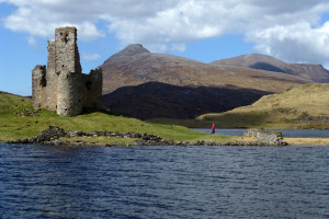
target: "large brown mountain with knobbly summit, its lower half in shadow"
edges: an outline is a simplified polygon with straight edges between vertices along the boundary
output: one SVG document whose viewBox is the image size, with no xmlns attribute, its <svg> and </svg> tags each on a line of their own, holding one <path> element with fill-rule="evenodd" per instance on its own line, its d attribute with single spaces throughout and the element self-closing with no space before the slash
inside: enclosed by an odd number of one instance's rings
<svg viewBox="0 0 329 219">
<path fill-rule="evenodd" d="M 195 118 L 249 105 L 310 79 L 284 72 L 204 64 L 128 45 L 104 61 L 104 106 L 137 118 Z"/>
</svg>

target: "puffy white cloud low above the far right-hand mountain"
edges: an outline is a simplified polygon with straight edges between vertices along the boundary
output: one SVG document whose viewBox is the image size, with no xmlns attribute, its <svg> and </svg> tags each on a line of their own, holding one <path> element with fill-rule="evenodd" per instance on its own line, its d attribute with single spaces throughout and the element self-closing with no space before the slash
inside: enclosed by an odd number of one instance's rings
<svg viewBox="0 0 329 219">
<path fill-rule="evenodd" d="M 311 27 L 308 23 L 273 26 L 247 34 L 258 42 L 256 49 L 294 62 L 322 64 L 329 59 L 329 22 Z"/>
</svg>

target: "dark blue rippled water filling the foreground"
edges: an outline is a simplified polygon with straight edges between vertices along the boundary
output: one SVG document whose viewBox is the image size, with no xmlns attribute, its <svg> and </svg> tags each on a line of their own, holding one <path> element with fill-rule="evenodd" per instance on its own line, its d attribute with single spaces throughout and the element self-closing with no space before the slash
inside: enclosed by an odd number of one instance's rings
<svg viewBox="0 0 329 219">
<path fill-rule="evenodd" d="M 329 147 L 0 143 L 0 218 L 328 218 Z"/>
</svg>

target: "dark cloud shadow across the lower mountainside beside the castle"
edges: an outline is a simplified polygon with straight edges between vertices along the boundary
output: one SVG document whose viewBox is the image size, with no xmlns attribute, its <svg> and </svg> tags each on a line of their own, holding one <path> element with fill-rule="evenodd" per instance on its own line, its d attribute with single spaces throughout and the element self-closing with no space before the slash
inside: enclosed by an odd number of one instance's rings
<svg viewBox="0 0 329 219">
<path fill-rule="evenodd" d="M 270 92 L 237 87 L 177 87 L 147 82 L 123 87 L 103 95 L 104 108 L 116 115 L 150 118 L 193 119 L 205 113 L 220 113 L 250 105 Z"/>
</svg>

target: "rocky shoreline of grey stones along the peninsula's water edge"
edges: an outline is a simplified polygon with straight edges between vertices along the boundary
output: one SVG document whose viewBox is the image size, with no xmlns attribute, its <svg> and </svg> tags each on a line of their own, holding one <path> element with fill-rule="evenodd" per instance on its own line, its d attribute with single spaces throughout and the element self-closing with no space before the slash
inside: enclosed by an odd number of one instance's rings
<svg viewBox="0 0 329 219">
<path fill-rule="evenodd" d="M 61 137 L 73 138 L 73 137 L 115 137 L 115 138 L 133 138 L 137 139 L 134 143 L 127 143 L 124 146 L 274 146 L 266 142 L 256 141 L 232 141 L 226 143 L 218 143 L 214 141 L 172 141 L 163 139 L 161 137 L 139 134 L 139 132 L 117 132 L 117 131 L 91 131 L 86 132 L 83 130 L 64 130 L 57 126 L 49 126 L 48 129 L 39 131 L 38 136 L 32 138 L 24 138 L 19 140 L 5 141 L 5 143 L 25 143 L 25 145 L 47 145 L 47 146 L 103 146 L 114 147 L 123 146 L 118 143 L 101 143 L 101 142 L 88 142 L 83 140 L 77 141 L 64 141 Z M 275 145 L 282 146 L 282 145 Z"/>
</svg>

